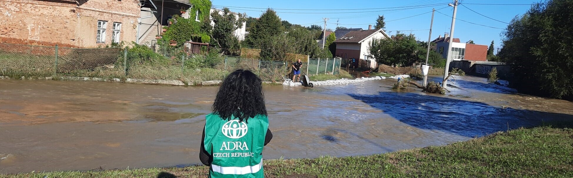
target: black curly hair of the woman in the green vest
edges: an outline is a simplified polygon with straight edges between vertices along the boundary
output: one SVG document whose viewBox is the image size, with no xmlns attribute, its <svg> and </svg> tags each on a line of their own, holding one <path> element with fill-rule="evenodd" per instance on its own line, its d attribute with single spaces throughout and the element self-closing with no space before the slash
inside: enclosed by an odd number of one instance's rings
<svg viewBox="0 0 573 178">
<path fill-rule="evenodd" d="M 233 117 L 247 122 L 256 115 L 267 115 L 261 79 L 252 71 L 236 70 L 229 74 L 215 96 L 213 113 L 223 120 Z"/>
</svg>

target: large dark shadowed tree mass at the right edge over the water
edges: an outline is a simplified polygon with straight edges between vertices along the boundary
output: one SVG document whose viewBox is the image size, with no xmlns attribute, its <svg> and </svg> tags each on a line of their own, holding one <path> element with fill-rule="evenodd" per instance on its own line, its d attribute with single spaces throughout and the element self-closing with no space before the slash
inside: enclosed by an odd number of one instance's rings
<svg viewBox="0 0 573 178">
<path fill-rule="evenodd" d="M 499 56 L 524 94 L 573 100 L 573 0 L 532 5 L 507 26 Z"/>
</svg>

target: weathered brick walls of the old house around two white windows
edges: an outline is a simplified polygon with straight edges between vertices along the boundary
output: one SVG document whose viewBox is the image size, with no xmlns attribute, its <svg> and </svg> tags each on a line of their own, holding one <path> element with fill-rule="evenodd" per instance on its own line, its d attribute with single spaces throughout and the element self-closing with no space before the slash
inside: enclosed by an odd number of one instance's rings
<svg viewBox="0 0 573 178">
<path fill-rule="evenodd" d="M 120 40 L 135 41 L 138 0 L 81 0 L 61 3 L 0 0 L 0 42 L 61 47 L 98 47 L 112 42 L 113 22 Z M 96 43 L 97 21 L 108 21 L 105 43 Z"/>
</svg>

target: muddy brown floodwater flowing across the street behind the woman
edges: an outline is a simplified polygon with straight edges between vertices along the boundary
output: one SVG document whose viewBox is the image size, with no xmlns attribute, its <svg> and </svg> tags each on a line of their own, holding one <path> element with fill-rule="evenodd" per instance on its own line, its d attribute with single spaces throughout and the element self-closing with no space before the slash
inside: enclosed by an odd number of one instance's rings
<svg viewBox="0 0 573 178">
<path fill-rule="evenodd" d="M 265 86 L 274 135 L 265 159 L 370 155 L 573 118 L 571 102 L 513 94 L 484 78 L 453 83 L 449 95 L 392 91 L 391 80 Z M 0 80 L 0 172 L 198 164 L 217 89 Z"/>
</svg>

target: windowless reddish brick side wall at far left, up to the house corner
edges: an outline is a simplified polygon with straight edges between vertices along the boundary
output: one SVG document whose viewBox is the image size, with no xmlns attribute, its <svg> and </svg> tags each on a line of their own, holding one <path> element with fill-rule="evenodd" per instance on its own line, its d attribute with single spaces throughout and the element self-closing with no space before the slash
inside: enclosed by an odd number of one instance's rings
<svg viewBox="0 0 573 178">
<path fill-rule="evenodd" d="M 75 4 L 32 0 L 0 0 L 0 42 L 76 46 Z"/>
</svg>

